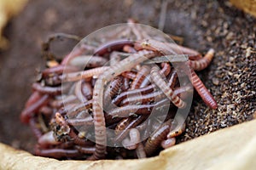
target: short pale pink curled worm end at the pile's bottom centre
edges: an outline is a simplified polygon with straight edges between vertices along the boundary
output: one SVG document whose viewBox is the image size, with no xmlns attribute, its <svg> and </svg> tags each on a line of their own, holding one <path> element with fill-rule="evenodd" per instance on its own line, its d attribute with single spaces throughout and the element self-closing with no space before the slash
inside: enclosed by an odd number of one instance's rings
<svg viewBox="0 0 256 170">
<path fill-rule="evenodd" d="M 137 130 L 137 128 L 131 128 L 129 135 L 130 140 L 127 138 L 123 139 L 122 144 L 128 150 L 135 150 L 140 142 L 140 132 Z"/>
</svg>

